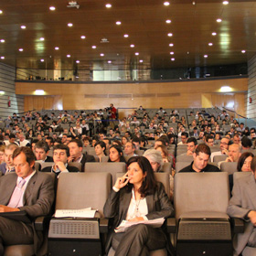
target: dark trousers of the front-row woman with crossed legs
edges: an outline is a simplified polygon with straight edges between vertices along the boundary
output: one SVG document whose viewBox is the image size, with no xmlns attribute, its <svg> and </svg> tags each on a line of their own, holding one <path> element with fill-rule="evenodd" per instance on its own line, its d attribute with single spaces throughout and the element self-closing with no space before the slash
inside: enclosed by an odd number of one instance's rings
<svg viewBox="0 0 256 256">
<path fill-rule="evenodd" d="M 165 246 L 164 231 L 144 224 L 135 225 L 124 233 L 114 233 L 112 237 L 115 256 L 146 256 L 148 251 L 163 249 Z"/>
</svg>

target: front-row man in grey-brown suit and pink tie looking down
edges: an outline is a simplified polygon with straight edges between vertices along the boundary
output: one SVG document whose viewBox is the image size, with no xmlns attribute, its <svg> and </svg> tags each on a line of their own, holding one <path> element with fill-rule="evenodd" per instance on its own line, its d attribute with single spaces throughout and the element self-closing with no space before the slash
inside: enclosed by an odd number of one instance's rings
<svg viewBox="0 0 256 256">
<path fill-rule="evenodd" d="M 0 255 L 4 254 L 4 245 L 33 243 L 37 254 L 42 234 L 35 231 L 33 220 L 50 213 L 54 180 L 34 170 L 35 156 L 30 148 L 16 148 L 13 158 L 16 173 L 0 179 L 0 211 L 25 211 L 31 223 L 0 217 Z"/>
</svg>

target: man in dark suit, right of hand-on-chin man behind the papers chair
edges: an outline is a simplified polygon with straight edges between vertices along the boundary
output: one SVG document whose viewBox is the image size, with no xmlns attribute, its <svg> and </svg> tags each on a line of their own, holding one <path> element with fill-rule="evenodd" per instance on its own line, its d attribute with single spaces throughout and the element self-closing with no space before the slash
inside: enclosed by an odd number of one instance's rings
<svg viewBox="0 0 256 256">
<path fill-rule="evenodd" d="M 82 154 L 82 143 L 80 140 L 74 139 L 69 142 L 69 163 L 81 163 L 81 171 L 84 171 L 84 165 L 87 162 L 95 162 L 93 155 Z"/>
</svg>

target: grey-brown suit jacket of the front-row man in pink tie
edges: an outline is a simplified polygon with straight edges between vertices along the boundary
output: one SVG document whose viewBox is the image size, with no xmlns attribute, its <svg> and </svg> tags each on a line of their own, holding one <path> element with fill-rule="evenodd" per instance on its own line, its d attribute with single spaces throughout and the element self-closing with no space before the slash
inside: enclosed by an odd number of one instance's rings
<svg viewBox="0 0 256 256">
<path fill-rule="evenodd" d="M 7 205 L 16 187 L 16 173 L 2 176 L 0 179 L 0 204 Z M 33 219 L 39 216 L 46 216 L 50 213 L 55 199 L 54 180 L 47 174 L 36 172 L 27 184 L 24 193 L 24 206 L 20 210 L 25 210 L 32 219 L 32 228 L 34 230 L 34 246 L 37 251 L 42 242 L 42 234 L 37 233 L 34 228 Z M 31 224 L 25 224 L 31 225 Z M 15 234 L 14 234 L 15 235 Z"/>
</svg>

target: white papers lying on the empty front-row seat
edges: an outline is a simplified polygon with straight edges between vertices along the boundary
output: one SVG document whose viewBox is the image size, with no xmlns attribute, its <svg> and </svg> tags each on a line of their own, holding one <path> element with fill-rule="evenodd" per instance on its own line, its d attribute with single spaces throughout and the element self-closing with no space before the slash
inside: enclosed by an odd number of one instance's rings
<svg viewBox="0 0 256 256">
<path fill-rule="evenodd" d="M 94 218 L 96 210 L 91 208 L 80 208 L 80 209 L 58 209 L 55 212 L 55 218 Z"/>
</svg>

